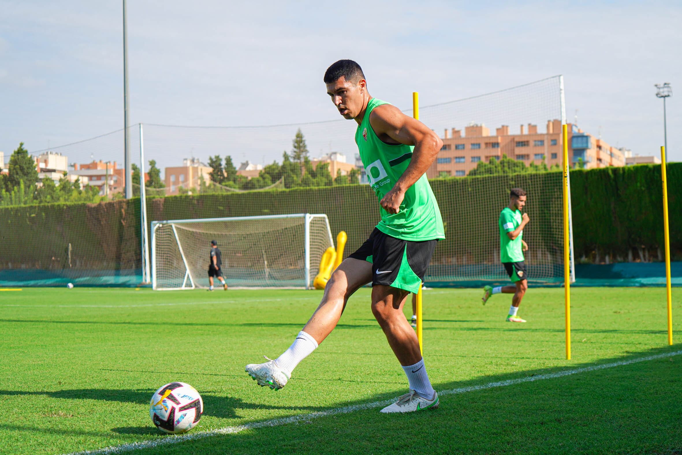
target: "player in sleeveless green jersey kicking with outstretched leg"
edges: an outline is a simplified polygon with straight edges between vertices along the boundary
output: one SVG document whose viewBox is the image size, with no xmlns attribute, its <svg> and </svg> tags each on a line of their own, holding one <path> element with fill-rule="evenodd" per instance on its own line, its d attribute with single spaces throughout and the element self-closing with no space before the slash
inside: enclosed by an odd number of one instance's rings
<svg viewBox="0 0 682 455">
<path fill-rule="evenodd" d="M 247 365 L 246 371 L 259 385 L 284 387 L 295 366 L 336 327 L 349 297 L 371 282 L 372 313 L 409 382 L 409 392 L 381 412 L 434 409 L 438 394 L 402 307 L 409 293 L 419 291 L 436 241 L 445 238 L 441 211 L 425 175 L 443 143 L 424 123 L 372 98 L 355 61 L 333 63 L 324 81 L 340 115 L 358 124 L 355 143 L 379 202 L 381 220 L 367 241 L 333 272 L 322 302 L 291 347 L 275 360 Z"/>
</svg>

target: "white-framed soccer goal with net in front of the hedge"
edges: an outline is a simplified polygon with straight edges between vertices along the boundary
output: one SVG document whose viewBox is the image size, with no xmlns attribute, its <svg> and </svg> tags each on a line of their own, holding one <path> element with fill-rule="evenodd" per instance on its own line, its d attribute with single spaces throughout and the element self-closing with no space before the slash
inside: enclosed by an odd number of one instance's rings
<svg viewBox="0 0 682 455">
<path fill-rule="evenodd" d="M 322 254 L 333 246 L 324 214 L 153 221 L 153 289 L 207 288 L 211 240 L 231 287 L 310 289 Z"/>
</svg>

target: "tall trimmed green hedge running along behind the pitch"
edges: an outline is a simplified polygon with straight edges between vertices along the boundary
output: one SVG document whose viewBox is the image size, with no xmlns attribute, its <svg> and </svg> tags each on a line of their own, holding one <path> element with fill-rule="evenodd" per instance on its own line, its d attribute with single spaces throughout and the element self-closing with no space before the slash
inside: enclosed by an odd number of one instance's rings
<svg viewBox="0 0 682 455">
<path fill-rule="evenodd" d="M 674 259 L 682 259 L 681 182 L 682 163 L 669 164 Z M 447 235 L 436 250 L 438 263 L 455 261 L 452 251 L 463 251 L 468 261 L 490 261 L 494 247 L 490 238 L 494 238 L 497 215 L 512 186 L 529 190 L 528 235 L 545 239 L 535 247 L 548 254 L 560 248 L 561 173 L 434 179 L 431 185 Z M 660 166 L 576 170 L 571 172 L 571 187 L 578 259 L 604 261 L 607 255 L 610 261 L 627 261 L 630 256 L 658 259 L 663 250 Z M 135 198 L 0 207 L 0 269 L 115 269 L 124 273 L 138 268 L 139 205 Z M 346 254 L 366 239 L 379 217 L 376 196 L 366 185 L 149 198 L 147 210 L 150 221 L 325 213 L 334 234 L 348 233 Z M 533 221 L 549 231 L 538 236 Z"/>
</svg>

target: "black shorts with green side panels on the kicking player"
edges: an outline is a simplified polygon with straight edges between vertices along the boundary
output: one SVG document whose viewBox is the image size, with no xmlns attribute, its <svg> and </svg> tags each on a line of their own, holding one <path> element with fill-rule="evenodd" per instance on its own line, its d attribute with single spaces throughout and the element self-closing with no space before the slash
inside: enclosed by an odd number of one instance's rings
<svg viewBox="0 0 682 455">
<path fill-rule="evenodd" d="M 372 285 L 417 293 L 435 248 L 436 240 L 401 240 L 374 228 L 370 238 L 349 257 L 372 263 Z"/>
</svg>

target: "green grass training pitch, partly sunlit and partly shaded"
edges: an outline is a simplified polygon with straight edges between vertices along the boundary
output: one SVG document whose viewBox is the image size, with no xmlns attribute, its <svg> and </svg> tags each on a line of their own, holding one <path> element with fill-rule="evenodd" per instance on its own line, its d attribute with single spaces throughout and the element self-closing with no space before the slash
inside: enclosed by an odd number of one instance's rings
<svg viewBox="0 0 682 455">
<path fill-rule="evenodd" d="M 507 295 L 484 307 L 477 290 L 425 291 L 432 383 L 464 390 L 408 415 L 372 404 L 406 392 L 406 379 L 372 318 L 369 291 L 351 298 L 336 330 L 278 392 L 256 386 L 243 366 L 284 351 L 320 291 L 2 292 L 0 453 L 174 439 L 148 411 L 152 392 L 171 381 L 203 396 L 204 415 L 188 435 L 233 428 L 135 452 L 682 453 L 682 355 L 542 376 L 682 353 L 667 345 L 664 289 L 574 289 L 570 361 L 563 289 L 530 289 L 519 312 L 526 324 L 505 323 Z M 682 340 L 682 324 L 674 329 Z M 291 416 L 299 417 L 276 420 Z"/>
</svg>

